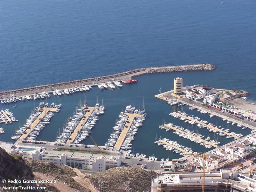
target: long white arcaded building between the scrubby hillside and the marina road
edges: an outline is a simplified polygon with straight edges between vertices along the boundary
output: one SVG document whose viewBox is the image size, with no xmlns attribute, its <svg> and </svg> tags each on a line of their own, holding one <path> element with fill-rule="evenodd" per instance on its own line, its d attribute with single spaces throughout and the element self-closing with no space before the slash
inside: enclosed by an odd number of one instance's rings
<svg viewBox="0 0 256 192">
<path fill-rule="evenodd" d="M 77 167 L 79 169 L 88 169 L 95 172 L 102 172 L 112 167 L 118 167 L 122 163 L 120 156 L 105 155 L 105 158 L 100 154 L 91 153 L 53 150 L 44 150 L 40 152 L 40 148 L 35 148 L 34 151 L 31 151 L 30 149 L 26 150 L 26 148 L 22 151 L 21 149 L 12 149 L 11 153 L 19 153 L 24 157 L 48 161 L 57 165 L 68 165 L 70 167 Z"/>
</svg>

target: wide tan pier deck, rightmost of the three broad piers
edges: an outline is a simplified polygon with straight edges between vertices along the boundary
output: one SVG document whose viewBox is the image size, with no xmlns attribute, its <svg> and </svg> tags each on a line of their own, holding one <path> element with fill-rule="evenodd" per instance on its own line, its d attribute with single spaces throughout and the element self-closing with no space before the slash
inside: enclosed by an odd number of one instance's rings
<svg viewBox="0 0 256 192">
<path fill-rule="evenodd" d="M 136 116 L 137 117 L 140 116 L 139 114 L 135 114 L 135 113 L 124 113 L 124 114 L 128 115 L 129 118 L 128 118 L 126 124 L 124 125 L 124 129 L 122 130 L 121 134 L 119 135 L 119 137 L 118 137 L 118 139 L 116 141 L 116 144 L 114 146 L 114 150 L 121 148 L 121 146 L 122 146 L 122 144 L 124 142 L 124 139 L 125 139 L 128 131 L 129 131 L 129 129 L 132 126 L 132 122 L 133 122 L 134 118 Z M 128 123 L 128 122 L 130 122 L 130 123 Z M 127 127 L 126 127 L 126 125 L 127 125 Z"/>
</svg>

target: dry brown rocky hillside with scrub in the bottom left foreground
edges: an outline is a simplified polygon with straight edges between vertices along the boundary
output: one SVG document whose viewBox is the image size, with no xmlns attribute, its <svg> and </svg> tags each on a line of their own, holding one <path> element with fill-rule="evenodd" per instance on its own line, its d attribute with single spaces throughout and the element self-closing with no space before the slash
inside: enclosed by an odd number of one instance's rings
<svg viewBox="0 0 256 192">
<path fill-rule="evenodd" d="M 101 178 L 101 188 L 104 192 L 125 192 L 125 188 L 131 188 L 130 192 L 148 192 L 151 188 L 151 177 L 155 174 L 153 171 L 131 167 L 116 167 L 94 175 L 85 174 L 66 165 L 23 159 L 19 155 L 11 156 L 0 148 L 1 187 L 3 179 L 48 179 L 56 180 L 57 183 L 37 184 L 40 187 L 47 187 L 47 190 L 41 190 L 42 192 L 99 192 Z"/>
</svg>

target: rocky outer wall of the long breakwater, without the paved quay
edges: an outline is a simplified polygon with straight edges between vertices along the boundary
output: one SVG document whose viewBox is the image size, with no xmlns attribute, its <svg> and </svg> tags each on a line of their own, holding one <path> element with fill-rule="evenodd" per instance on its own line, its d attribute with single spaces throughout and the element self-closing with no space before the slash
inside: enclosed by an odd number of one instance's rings
<svg viewBox="0 0 256 192">
<path fill-rule="evenodd" d="M 90 81 L 97 81 L 102 79 L 111 79 L 121 76 L 127 76 L 130 75 L 130 77 L 136 77 L 141 76 L 145 74 L 150 73 L 165 73 L 165 72 L 178 72 L 178 71 L 194 71 L 194 70 L 214 70 L 217 67 L 208 63 L 204 64 L 194 64 L 194 65 L 179 65 L 179 66 L 166 66 L 166 67 L 151 67 L 151 68 L 139 68 L 139 69 L 133 69 L 129 71 L 125 71 L 122 73 L 117 73 L 113 75 L 107 75 L 107 76 L 99 76 L 99 77 L 92 77 L 92 78 L 86 78 L 86 79 L 80 79 L 80 80 L 74 80 L 74 81 L 66 81 L 61 83 L 55 83 L 55 84 L 45 84 L 41 86 L 33 86 L 33 87 L 26 87 L 26 88 L 20 88 L 20 89 L 14 89 L 14 90 L 7 90 L 7 91 L 1 91 L 1 95 L 6 94 L 15 94 L 19 92 L 26 92 L 36 89 L 45 89 L 45 88 L 54 88 L 55 86 L 62 86 L 62 85 L 69 85 L 69 84 L 76 84 L 76 83 L 86 83 Z"/>
</svg>

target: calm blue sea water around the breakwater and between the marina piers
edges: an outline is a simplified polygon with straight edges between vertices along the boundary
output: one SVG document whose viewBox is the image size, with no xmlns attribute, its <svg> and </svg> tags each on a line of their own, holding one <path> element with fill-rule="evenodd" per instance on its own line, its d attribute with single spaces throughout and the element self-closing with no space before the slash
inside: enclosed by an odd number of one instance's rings
<svg viewBox="0 0 256 192">
<path fill-rule="evenodd" d="M 134 68 L 214 64 L 218 67 L 215 71 L 146 75 L 138 77 L 137 84 L 125 85 L 123 89 L 101 92 L 94 88 L 86 93 L 89 105 L 95 104 L 96 92 L 106 105 L 106 113 L 100 116 L 92 131 L 98 144 L 103 145 L 108 139 L 119 112 L 126 105 L 141 105 L 144 95 L 148 118 L 133 141 L 134 150 L 176 158 L 176 154 L 167 153 L 154 144 L 156 134 L 181 140 L 193 148 L 202 146 L 158 129 L 163 118 L 181 125 L 180 121 L 168 116 L 175 108 L 153 98 L 160 87 L 163 91 L 170 90 L 173 78 L 181 76 L 184 84 L 244 89 L 251 92 L 250 98 L 255 100 L 256 2 L 223 2 L 1 0 L 0 91 Z M 60 97 L 61 111 L 42 131 L 39 140 L 55 139 L 80 98 L 83 99 L 84 94 Z M 58 100 L 52 96 L 48 102 Z M 0 135 L 0 140 L 11 141 L 15 129 L 25 123 L 39 102 L 20 102 L 17 108 L 1 105 L 1 109 L 10 108 L 19 122 L 1 124 L 6 133 Z M 186 107 L 184 110 L 196 113 Z M 218 117 L 214 118 L 209 122 L 222 125 Z M 202 132 L 206 137 L 209 134 L 206 130 Z M 92 141 L 88 139 L 84 143 L 92 144 Z"/>
</svg>

